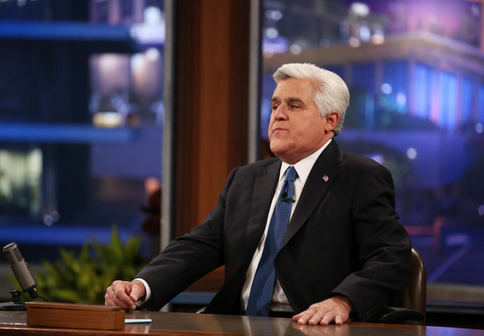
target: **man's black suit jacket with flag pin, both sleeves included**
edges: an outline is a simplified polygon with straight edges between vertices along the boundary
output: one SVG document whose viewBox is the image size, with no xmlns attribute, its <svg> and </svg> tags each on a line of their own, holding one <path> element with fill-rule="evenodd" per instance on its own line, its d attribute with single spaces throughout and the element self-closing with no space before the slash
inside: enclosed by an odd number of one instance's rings
<svg viewBox="0 0 484 336">
<path fill-rule="evenodd" d="M 280 166 L 275 158 L 234 169 L 205 221 L 143 268 L 137 277 L 152 290 L 152 309 L 224 264 L 225 281 L 205 312 L 239 312 Z M 354 319 L 373 316 L 408 278 L 411 243 L 397 219 L 390 172 L 333 140 L 308 176 L 274 260 L 294 312 L 343 294 Z"/>
</svg>

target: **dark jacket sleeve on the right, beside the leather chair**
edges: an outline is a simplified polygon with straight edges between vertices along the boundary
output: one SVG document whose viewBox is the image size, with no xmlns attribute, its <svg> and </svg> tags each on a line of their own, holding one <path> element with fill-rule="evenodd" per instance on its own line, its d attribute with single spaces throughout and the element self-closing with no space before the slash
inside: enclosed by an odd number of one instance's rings
<svg viewBox="0 0 484 336">
<path fill-rule="evenodd" d="M 348 275 L 330 296 L 351 299 L 361 321 L 368 320 L 408 280 L 410 238 L 397 222 L 393 180 L 381 165 L 370 166 L 352 197 L 351 222 L 361 270 Z"/>
</svg>

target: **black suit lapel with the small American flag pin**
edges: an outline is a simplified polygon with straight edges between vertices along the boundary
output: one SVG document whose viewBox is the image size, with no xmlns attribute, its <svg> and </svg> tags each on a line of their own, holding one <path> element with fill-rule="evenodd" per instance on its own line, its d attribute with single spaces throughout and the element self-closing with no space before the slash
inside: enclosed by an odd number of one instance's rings
<svg viewBox="0 0 484 336">
<path fill-rule="evenodd" d="M 321 199 L 338 174 L 342 155 L 339 146 L 332 140 L 314 163 L 313 169 L 311 169 L 308 179 L 304 184 L 304 188 L 302 188 L 296 209 L 287 226 L 281 249 L 308 220 L 314 209 L 321 202 Z"/>
</svg>

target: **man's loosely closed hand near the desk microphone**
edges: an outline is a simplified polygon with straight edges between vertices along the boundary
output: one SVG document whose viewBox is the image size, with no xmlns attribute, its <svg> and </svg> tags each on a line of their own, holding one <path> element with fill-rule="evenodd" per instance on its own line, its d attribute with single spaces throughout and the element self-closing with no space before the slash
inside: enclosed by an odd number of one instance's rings
<svg viewBox="0 0 484 336">
<path fill-rule="evenodd" d="M 125 310 L 135 310 L 135 302 L 146 295 L 146 289 L 139 280 L 133 282 L 116 280 L 106 289 L 105 306 L 119 306 Z"/>
</svg>

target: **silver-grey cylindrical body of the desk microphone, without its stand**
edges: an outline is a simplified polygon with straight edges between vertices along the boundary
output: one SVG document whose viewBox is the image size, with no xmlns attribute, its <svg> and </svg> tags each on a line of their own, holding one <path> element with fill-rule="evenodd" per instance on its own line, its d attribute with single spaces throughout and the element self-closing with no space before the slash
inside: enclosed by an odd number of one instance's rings
<svg viewBox="0 0 484 336">
<path fill-rule="evenodd" d="M 25 262 L 22 254 L 20 254 L 17 244 L 10 243 L 7 246 L 4 246 L 2 251 L 5 253 L 7 260 L 10 263 L 10 267 L 12 267 L 12 271 L 22 288 L 22 292 L 29 292 L 30 297 L 35 299 L 37 297 L 37 291 L 35 290 L 37 284 L 32 273 L 30 273 L 27 262 Z"/>
</svg>

